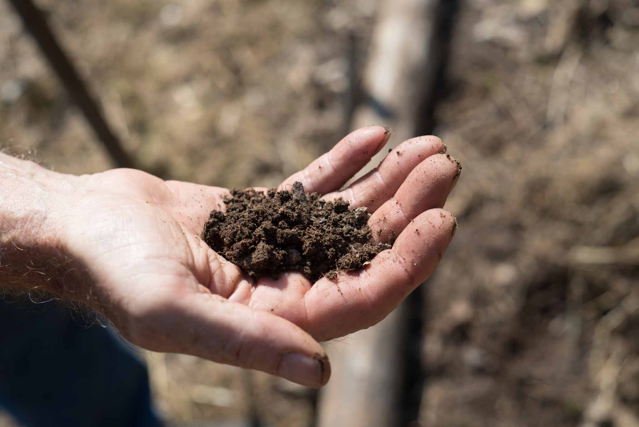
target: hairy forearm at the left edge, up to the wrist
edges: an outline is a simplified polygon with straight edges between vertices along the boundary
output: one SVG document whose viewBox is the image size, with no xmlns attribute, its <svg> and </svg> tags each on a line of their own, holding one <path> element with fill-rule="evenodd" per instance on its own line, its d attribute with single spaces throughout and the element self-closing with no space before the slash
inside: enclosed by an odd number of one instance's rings
<svg viewBox="0 0 639 427">
<path fill-rule="evenodd" d="M 76 292 L 78 268 L 58 227 L 74 177 L 0 153 L 0 286 L 64 298 Z M 75 298 L 72 298 L 75 299 Z"/>
</svg>

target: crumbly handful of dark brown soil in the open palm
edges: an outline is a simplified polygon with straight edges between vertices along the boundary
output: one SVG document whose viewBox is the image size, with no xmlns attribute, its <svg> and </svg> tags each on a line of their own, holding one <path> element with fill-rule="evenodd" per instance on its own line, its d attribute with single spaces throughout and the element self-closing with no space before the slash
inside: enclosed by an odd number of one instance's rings
<svg viewBox="0 0 639 427">
<path fill-rule="evenodd" d="M 301 182 L 292 191 L 266 194 L 253 189 L 231 191 L 226 214 L 212 211 L 202 238 L 251 276 L 277 278 L 282 271 L 300 271 L 313 282 L 337 270 L 357 270 L 390 245 L 369 243 L 366 207 L 348 209 L 348 202 L 306 195 Z"/>
</svg>

